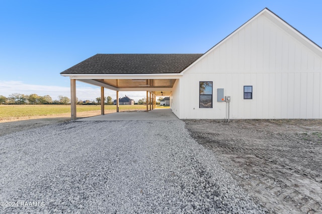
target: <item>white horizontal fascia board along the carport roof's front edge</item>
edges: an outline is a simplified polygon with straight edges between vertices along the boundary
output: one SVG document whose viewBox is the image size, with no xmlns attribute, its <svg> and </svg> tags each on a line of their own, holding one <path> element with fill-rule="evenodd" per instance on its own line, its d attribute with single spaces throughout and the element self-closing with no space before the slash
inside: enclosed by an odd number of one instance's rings
<svg viewBox="0 0 322 214">
<path fill-rule="evenodd" d="M 70 79 L 179 79 L 180 74 L 61 74 Z"/>
</svg>

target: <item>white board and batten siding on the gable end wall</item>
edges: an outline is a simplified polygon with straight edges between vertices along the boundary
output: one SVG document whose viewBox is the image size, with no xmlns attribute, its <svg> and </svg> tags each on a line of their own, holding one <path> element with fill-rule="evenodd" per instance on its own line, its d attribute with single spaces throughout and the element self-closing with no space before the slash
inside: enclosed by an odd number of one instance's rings
<svg viewBox="0 0 322 214">
<path fill-rule="evenodd" d="M 226 118 L 226 103 L 217 102 L 217 88 L 223 88 L 231 96 L 231 119 L 322 118 L 321 52 L 283 25 L 263 13 L 209 50 L 176 85 L 175 114 Z M 213 82 L 211 109 L 199 108 L 199 81 Z M 244 86 L 253 86 L 252 100 L 244 100 Z"/>
</svg>

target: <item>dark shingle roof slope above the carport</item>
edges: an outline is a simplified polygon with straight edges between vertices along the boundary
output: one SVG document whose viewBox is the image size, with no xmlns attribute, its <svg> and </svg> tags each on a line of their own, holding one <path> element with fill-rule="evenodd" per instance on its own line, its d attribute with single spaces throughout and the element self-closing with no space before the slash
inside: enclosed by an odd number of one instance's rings
<svg viewBox="0 0 322 214">
<path fill-rule="evenodd" d="M 97 54 L 60 74 L 180 73 L 203 54 Z"/>
</svg>

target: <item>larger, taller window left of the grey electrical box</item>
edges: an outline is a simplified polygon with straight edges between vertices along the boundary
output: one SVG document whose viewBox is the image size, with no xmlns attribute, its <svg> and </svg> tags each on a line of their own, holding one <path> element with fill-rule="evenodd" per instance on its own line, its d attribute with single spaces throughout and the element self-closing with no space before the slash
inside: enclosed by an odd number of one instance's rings
<svg viewBox="0 0 322 214">
<path fill-rule="evenodd" d="M 199 82 L 199 108 L 212 108 L 212 82 Z"/>
</svg>

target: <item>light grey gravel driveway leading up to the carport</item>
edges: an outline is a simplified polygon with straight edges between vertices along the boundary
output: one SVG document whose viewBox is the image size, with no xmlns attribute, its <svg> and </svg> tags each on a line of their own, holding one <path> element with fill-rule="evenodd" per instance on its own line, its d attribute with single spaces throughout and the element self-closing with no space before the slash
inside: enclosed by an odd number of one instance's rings
<svg viewBox="0 0 322 214">
<path fill-rule="evenodd" d="M 181 120 L 11 133 L 0 136 L 0 165 L 2 213 L 265 212 Z"/>
</svg>

